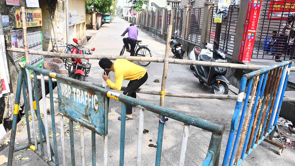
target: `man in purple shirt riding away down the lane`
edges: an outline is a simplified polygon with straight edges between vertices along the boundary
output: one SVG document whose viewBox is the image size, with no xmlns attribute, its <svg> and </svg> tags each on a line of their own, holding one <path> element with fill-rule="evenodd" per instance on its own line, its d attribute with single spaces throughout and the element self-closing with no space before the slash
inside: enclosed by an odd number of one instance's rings
<svg viewBox="0 0 295 166">
<path fill-rule="evenodd" d="M 126 47 L 126 51 L 130 52 L 130 56 L 134 56 L 135 54 L 135 46 L 137 42 L 137 36 L 138 36 L 138 28 L 134 26 L 134 24 L 130 24 L 129 27 L 126 28 L 126 30 L 121 34 L 121 36 L 124 36 L 128 32 L 128 37 L 123 39 L 124 45 Z M 129 45 L 130 44 L 130 48 Z"/>
</svg>

